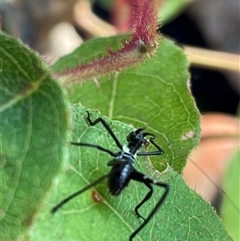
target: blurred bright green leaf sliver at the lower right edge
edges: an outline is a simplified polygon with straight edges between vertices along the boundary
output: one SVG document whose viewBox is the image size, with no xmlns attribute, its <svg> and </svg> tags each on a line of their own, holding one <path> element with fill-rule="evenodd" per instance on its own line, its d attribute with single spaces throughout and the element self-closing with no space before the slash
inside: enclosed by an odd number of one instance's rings
<svg viewBox="0 0 240 241">
<path fill-rule="evenodd" d="M 224 196 L 221 206 L 221 217 L 229 235 L 233 240 L 239 240 L 239 210 L 240 210 L 240 150 L 236 150 L 231 158 L 230 166 L 227 169 L 223 190 L 228 194 Z M 231 202 L 229 201 L 231 200 Z M 234 204 L 234 205 L 233 205 Z M 237 207 L 235 207 L 237 205 Z"/>
</svg>

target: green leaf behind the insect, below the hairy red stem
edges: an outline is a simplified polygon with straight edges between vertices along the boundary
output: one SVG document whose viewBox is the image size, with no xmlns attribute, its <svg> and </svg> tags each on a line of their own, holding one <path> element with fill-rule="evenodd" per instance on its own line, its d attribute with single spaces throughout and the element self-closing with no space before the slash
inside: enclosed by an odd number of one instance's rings
<svg viewBox="0 0 240 241">
<path fill-rule="evenodd" d="M 97 39 L 95 47 L 93 40 L 86 42 L 72 53 L 72 62 L 70 54 L 56 66 L 66 62 L 76 66 L 76 56 L 94 58 L 106 43 L 116 47 L 116 36 Z M 153 158 L 154 167 L 164 170 L 168 163 L 181 172 L 200 132 L 199 113 L 188 89 L 187 67 L 183 51 L 165 39 L 150 59 L 116 75 L 98 78 L 99 86 L 93 80 L 75 86 L 69 97 L 73 103 L 99 108 L 111 119 L 148 127 L 165 151 L 164 157 Z"/>
</svg>

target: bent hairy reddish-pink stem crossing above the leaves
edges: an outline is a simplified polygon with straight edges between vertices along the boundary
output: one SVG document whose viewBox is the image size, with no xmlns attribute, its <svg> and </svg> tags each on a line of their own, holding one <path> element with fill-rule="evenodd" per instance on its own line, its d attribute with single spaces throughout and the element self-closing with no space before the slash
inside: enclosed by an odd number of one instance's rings
<svg viewBox="0 0 240 241">
<path fill-rule="evenodd" d="M 117 51 L 109 48 L 108 55 L 104 57 L 95 58 L 86 64 L 76 64 L 72 68 L 55 73 L 62 85 L 70 87 L 88 78 L 122 71 L 142 62 L 155 52 L 160 39 L 157 30 L 159 6 L 159 1 L 138 1 L 132 12 L 133 31 L 129 40 L 123 40 L 123 46 Z"/>
</svg>

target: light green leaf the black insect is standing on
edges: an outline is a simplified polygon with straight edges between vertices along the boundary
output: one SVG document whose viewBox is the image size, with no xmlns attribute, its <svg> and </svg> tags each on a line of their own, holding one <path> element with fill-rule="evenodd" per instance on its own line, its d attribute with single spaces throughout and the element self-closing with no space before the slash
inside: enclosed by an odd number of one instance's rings
<svg viewBox="0 0 240 241">
<path fill-rule="evenodd" d="M 73 141 L 96 143 L 111 150 L 117 150 L 113 140 L 101 124 L 90 127 L 86 122 L 86 109 L 74 105 Z M 95 120 L 99 114 L 92 112 Z M 122 143 L 133 127 L 119 121 L 105 118 Z M 157 141 L 157 140 L 156 140 Z M 134 214 L 134 207 L 144 198 L 148 188 L 141 183 L 130 182 L 123 193 L 111 196 L 103 181 L 96 186 L 102 201 L 92 198 L 94 189 L 90 189 L 71 200 L 53 216 L 49 210 L 60 200 L 83 188 L 109 171 L 107 162 L 111 158 L 93 148 L 71 147 L 71 157 L 65 171 L 58 178 L 58 187 L 46 202 L 43 212 L 38 216 L 29 240 L 83 240 L 83 241 L 122 241 L 142 223 Z M 167 182 L 170 193 L 160 210 L 148 225 L 134 238 L 135 240 L 231 240 L 215 211 L 194 191 L 191 191 L 182 177 L 170 167 L 168 172 L 160 174 L 154 170 L 147 158 L 138 158 L 135 168 L 152 178 Z M 146 217 L 159 201 L 162 188 L 154 187 L 153 197 L 140 208 Z"/>
</svg>

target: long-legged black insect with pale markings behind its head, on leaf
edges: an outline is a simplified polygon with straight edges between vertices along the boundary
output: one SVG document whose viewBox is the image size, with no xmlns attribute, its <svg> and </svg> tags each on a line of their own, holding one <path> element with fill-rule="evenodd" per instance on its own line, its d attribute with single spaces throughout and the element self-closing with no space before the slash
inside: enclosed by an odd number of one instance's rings
<svg viewBox="0 0 240 241">
<path fill-rule="evenodd" d="M 113 140 L 115 141 L 116 145 L 120 149 L 119 152 L 112 152 L 102 146 L 96 145 L 96 144 L 90 144 L 90 143 L 83 143 L 83 142 L 71 142 L 72 145 L 75 146 L 87 146 L 96 148 L 100 151 L 108 153 L 110 156 L 113 157 L 111 161 L 108 162 L 108 166 L 111 166 L 112 169 L 109 173 L 101 176 L 96 181 L 90 183 L 86 187 L 82 188 L 81 190 L 73 193 L 69 197 L 63 199 L 59 204 L 57 204 L 55 207 L 51 209 L 51 213 L 55 213 L 60 207 L 62 207 L 65 203 L 76 197 L 77 195 L 85 192 L 89 188 L 95 186 L 97 183 L 101 182 L 105 178 L 108 179 L 108 187 L 112 195 L 117 196 L 119 195 L 122 190 L 128 185 L 130 180 L 138 181 L 143 184 L 145 184 L 149 188 L 149 192 L 147 195 L 143 198 L 143 200 L 135 207 L 135 213 L 138 218 L 143 219 L 143 223 L 130 235 L 129 241 L 133 240 L 133 238 L 145 227 L 145 225 L 151 220 L 153 215 L 158 211 L 162 203 L 164 202 L 168 192 L 169 192 L 169 185 L 163 182 L 158 182 L 156 180 L 152 180 L 149 177 L 145 176 L 143 173 L 138 172 L 134 168 L 134 161 L 136 159 L 136 156 L 157 156 L 163 154 L 163 150 L 160 146 L 158 146 L 154 142 L 154 135 L 143 132 L 144 128 L 137 129 L 136 131 L 132 131 L 127 136 L 127 144 L 122 145 L 107 122 L 99 117 L 95 121 L 92 121 L 90 118 L 89 112 L 87 112 L 87 120 L 89 121 L 91 126 L 96 125 L 97 123 L 102 123 L 102 125 L 106 128 L 108 133 L 111 135 Z M 149 140 L 146 138 L 146 136 L 150 136 Z M 142 146 L 146 146 L 149 143 L 153 144 L 157 151 L 150 151 L 150 152 L 140 152 L 139 149 Z M 156 206 L 153 208 L 153 210 L 150 212 L 150 214 L 144 218 L 139 212 L 139 208 L 151 198 L 153 194 L 153 187 L 152 185 L 157 185 L 160 187 L 163 187 L 164 193 L 157 202 Z"/>
</svg>

